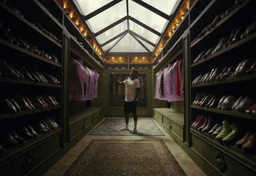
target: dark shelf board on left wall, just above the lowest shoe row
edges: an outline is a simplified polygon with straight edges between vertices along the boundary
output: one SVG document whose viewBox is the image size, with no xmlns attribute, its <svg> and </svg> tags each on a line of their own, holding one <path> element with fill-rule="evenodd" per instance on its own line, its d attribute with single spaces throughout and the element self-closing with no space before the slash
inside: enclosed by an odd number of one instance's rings
<svg viewBox="0 0 256 176">
<path fill-rule="evenodd" d="M 0 120 L 3 119 L 11 119 L 15 117 L 22 117 L 25 115 L 31 115 L 31 114 L 38 114 L 41 112 L 49 112 L 52 110 L 60 110 L 61 106 L 54 106 L 54 107 L 49 107 L 49 108 L 36 108 L 33 110 L 22 110 L 21 112 L 16 112 L 16 113 L 6 113 L 6 114 L 0 114 Z"/>
</svg>

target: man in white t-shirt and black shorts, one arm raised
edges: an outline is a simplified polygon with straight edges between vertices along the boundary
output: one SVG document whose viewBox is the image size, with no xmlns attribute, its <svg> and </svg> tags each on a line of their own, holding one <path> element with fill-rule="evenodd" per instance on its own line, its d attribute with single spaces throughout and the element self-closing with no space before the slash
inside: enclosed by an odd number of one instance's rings
<svg viewBox="0 0 256 176">
<path fill-rule="evenodd" d="M 114 79 L 116 80 L 115 73 Z M 129 113 L 131 112 L 134 119 L 134 129 L 132 133 L 137 133 L 137 122 L 138 116 L 136 112 L 138 95 L 140 93 L 140 81 L 138 80 L 138 71 L 132 70 L 130 73 L 130 78 L 124 80 L 123 82 L 118 82 L 118 85 L 125 85 L 125 99 L 124 99 L 124 114 L 125 114 L 125 128 L 121 129 L 122 131 L 129 130 Z"/>
</svg>

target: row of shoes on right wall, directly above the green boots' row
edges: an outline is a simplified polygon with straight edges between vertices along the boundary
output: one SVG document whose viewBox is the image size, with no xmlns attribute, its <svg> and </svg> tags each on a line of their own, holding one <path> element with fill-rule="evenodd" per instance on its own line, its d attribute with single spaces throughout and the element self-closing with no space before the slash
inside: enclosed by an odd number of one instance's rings
<svg viewBox="0 0 256 176">
<path fill-rule="evenodd" d="M 222 96 L 219 98 L 214 95 L 196 94 L 193 105 L 204 106 L 207 108 L 218 108 L 221 110 L 232 110 L 235 112 L 246 112 L 256 114 L 255 100 L 249 96 Z"/>
</svg>

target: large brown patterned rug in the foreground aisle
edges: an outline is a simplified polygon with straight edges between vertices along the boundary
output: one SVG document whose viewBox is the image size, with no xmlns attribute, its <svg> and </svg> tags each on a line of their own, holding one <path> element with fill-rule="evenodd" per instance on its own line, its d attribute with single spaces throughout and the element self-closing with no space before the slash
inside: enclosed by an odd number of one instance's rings
<svg viewBox="0 0 256 176">
<path fill-rule="evenodd" d="M 162 140 L 92 140 L 64 175 L 186 175 Z"/>
</svg>

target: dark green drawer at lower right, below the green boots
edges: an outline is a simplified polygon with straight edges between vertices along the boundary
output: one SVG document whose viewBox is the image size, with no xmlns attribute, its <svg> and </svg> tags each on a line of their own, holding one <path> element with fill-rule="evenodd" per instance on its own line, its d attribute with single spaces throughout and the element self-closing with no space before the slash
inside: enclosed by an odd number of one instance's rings
<svg viewBox="0 0 256 176">
<path fill-rule="evenodd" d="M 216 172 L 223 173 L 223 175 L 256 175 L 255 170 L 241 164 L 243 161 L 231 158 L 202 138 L 192 134 L 191 139 L 191 149 L 215 168 Z"/>
</svg>

